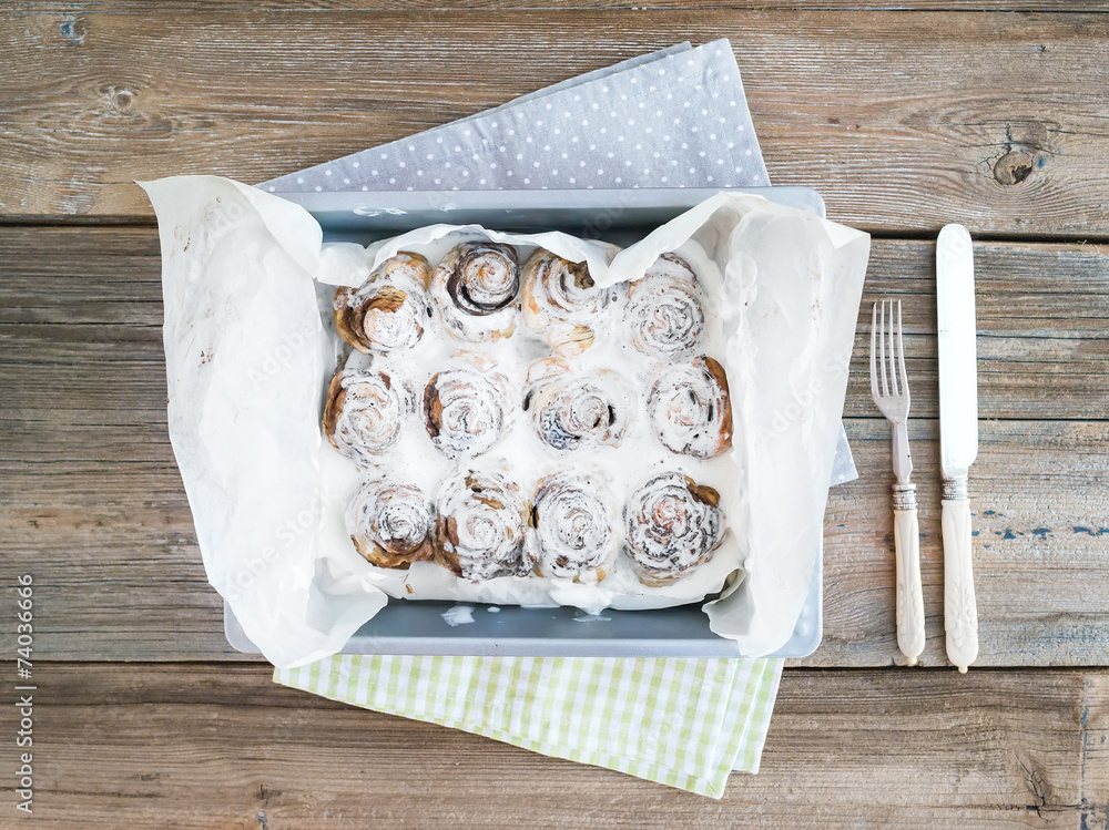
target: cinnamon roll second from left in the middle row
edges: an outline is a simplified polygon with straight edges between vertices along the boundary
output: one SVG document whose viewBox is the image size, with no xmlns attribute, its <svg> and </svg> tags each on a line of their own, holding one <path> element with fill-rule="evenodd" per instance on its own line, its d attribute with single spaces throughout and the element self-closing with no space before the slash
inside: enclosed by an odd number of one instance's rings
<svg viewBox="0 0 1109 830">
<path fill-rule="evenodd" d="M 447 458 L 480 455 L 509 428 L 508 379 L 474 356 L 437 372 L 424 389 L 424 423 Z"/>
</svg>

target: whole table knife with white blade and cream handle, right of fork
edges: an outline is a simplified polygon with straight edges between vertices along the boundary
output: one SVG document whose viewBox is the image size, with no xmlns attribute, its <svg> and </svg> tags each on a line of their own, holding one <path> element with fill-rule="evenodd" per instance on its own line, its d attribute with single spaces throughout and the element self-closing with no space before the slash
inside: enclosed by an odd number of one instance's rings
<svg viewBox="0 0 1109 830">
<path fill-rule="evenodd" d="M 967 473 L 978 455 L 974 248 L 962 225 L 936 243 L 939 322 L 939 444 L 944 472 L 944 627 L 947 658 L 959 672 L 978 657 L 978 609 L 970 563 Z"/>
</svg>

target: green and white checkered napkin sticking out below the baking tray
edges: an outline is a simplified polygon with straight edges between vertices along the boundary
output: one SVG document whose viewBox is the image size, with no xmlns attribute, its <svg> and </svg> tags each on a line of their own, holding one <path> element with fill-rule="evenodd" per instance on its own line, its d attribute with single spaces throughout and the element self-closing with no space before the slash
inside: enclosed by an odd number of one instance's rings
<svg viewBox="0 0 1109 830">
<path fill-rule="evenodd" d="M 759 771 L 782 663 L 335 655 L 274 680 L 720 798 Z"/>
</svg>

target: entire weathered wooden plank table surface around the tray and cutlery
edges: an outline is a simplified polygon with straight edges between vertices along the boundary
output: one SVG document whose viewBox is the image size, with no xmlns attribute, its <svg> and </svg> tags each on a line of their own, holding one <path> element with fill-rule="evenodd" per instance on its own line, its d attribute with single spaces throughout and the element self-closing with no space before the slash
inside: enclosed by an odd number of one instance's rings
<svg viewBox="0 0 1109 830">
<path fill-rule="evenodd" d="M 27 827 L 1109 824 L 1109 3 L 136 0 L 0 8 L 0 827 L 33 574 Z M 894 628 L 888 427 L 859 319 L 825 635 L 763 771 L 712 801 L 271 683 L 232 652 L 165 426 L 132 184 L 262 181 L 682 40 L 732 41 L 776 184 L 874 236 L 905 304 L 928 645 Z M 981 656 L 944 656 L 934 238 L 976 238 Z M 10 646 L 8 644 L 11 644 Z M 10 728 L 9 728 L 10 727 Z M 32 823 L 33 822 L 33 823 Z"/>
</svg>

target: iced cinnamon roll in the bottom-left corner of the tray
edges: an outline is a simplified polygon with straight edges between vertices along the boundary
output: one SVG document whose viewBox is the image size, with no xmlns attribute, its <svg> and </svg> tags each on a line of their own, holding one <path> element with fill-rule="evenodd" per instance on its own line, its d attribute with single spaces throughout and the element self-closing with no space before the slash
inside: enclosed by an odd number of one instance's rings
<svg viewBox="0 0 1109 830">
<path fill-rule="evenodd" d="M 431 505 L 419 488 L 369 481 L 347 508 L 346 523 L 354 546 L 373 565 L 408 567 L 435 554 Z"/>
</svg>

